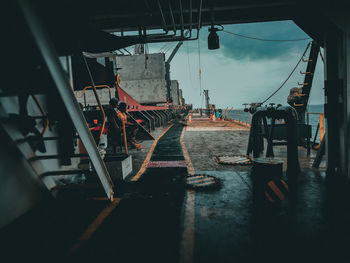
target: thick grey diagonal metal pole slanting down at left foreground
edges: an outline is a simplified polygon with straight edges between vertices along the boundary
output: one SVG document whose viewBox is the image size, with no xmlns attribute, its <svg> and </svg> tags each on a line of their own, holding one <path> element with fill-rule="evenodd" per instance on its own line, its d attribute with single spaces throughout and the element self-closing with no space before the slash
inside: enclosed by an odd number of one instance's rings
<svg viewBox="0 0 350 263">
<path fill-rule="evenodd" d="M 84 115 L 80 110 L 78 101 L 74 97 L 66 73 L 62 68 L 61 62 L 59 61 L 55 47 L 51 42 L 51 39 L 43 24 L 39 20 L 39 16 L 35 13 L 31 3 L 26 0 L 17 0 L 17 2 L 24 15 L 29 30 L 34 37 L 34 41 L 38 46 L 39 52 L 41 53 L 51 77 L 56 84 L 58 93 L 60 94 L 68 114 L 72 119 L 77 132 L 79 133 L 80 139 L 82 140 L 85 149 L 91 158 L 96 174 L 101 180 L 107 197 L 113 200 L 114 186 L 112 179 L 109 176 L 107 168 L 97 150 L 94 138 L 86 125 Z"/>
</svg>

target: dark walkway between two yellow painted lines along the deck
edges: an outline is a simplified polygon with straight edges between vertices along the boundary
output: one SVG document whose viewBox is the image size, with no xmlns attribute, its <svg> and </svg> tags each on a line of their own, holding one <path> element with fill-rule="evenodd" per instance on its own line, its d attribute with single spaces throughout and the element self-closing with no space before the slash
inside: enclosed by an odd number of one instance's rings
<svg viewBox="0 0 350 263">
<path fill-rule="evenodd" d="M 122 200 L 70 262 L 178 262 L 187 167 L 175 123 L 158 141 L 137 191 Z"/>
</svg>

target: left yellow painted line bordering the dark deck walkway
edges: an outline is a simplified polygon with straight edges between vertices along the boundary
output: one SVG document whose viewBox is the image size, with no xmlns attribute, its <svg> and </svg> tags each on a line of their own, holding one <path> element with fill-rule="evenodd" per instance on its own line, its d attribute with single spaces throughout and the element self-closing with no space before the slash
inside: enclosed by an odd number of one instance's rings
<svg viewBox="0 0 350 263">
<path fill-rule="evenodd" d="M 164 134 L 166 134 L 174 124 L 171 124 L 161 135 L 158 136 L 157 139 L 154 140 L 151 148 L 149 149 L 145 160 L 142 163 L 140 170 L 137 174 L 131 179 L 131 181 L 137 181 L 142 174 L 145 172 L 148 163 L 152 157 L 153 151 L 157 146 L 157 143 Z M 103 199 L 102 199 L 103 200 Z M 116 198 L 110 203 L 106 208 L 104 208 L 95 218 L 95 220 L 88 226 L 88 228 L 84 231 L 84 233 L 79 237 L 78 241 L 71 247 L 68 252 L 68 255 L 74 254 L 78 249 L 82 247 L 86 241 L 90 239 L 90 237 L 96 232 L 96 230 L 100 227 L 103 221 L 109 216 L 109 214 L 117 207 L 120 202 L 120 198 Z"/>
</svg>

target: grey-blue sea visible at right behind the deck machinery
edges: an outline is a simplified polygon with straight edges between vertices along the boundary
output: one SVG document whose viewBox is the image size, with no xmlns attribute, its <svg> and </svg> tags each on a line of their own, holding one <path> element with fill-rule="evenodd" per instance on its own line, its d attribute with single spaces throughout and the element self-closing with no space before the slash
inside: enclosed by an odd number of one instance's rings
<svg viewBox="0 0 350 263">
<path fill-rule="evenodd" d="M 312 126 L 312 138 L 311 141 L 314 140 L 315 137 L 315 132 L 317 129 L 317 125 L 320 120 L 320 115 L 319 113 L 324 112 L 324 107 L 323 104 L 321 105 L 309 105 L 307 108 L 307 112 L 309 113 L 317 113 L 317 114 L 308 114 L 309 116 L 309 124 Z M 240 120 L 242 122 L 247 122 L 250 123 L 250 113 L 249 112 L 244 112 L 243 109 L 237 109 L 237 110 L 232 110 L 228 115 L 228 118 L 230 119 L 235 119 L 235 120 Z M 307 116 L 306 116 L 307 118 Z M 320 132 L 318 131 L 317 137 L 316 137 L 316 142 L 320 141 Z"/>
</svg>

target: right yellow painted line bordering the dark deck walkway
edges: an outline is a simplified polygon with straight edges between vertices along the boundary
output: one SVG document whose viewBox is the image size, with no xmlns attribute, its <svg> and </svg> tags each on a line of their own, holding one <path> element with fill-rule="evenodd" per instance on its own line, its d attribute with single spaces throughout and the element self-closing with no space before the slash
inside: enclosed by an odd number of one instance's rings
<svg viewBox="0 0 350 263">
<path fill-rule="evenodd" d="M 185 143 L 183 142 L 183 137 L 185 134 L 185 129 L 183 128 L 180 136 L 180 144 L 182 148 L 183 155 L 185 157 L 187 165 L 188 175 L 194 175 L 195 170 L 191 162 L 190 156 L 186 149 Z M 184 214 L 184 230 L 182 234 L 182 240 L 180 244 L 180 263 L 191 263 L 193 262 L 193 252 L 194 252 L 194 219 L 195 219 L 195 192 L 193 190 L 187 191 L 186 203 L 185 203 L 185 214 Z"/>
</svg>

